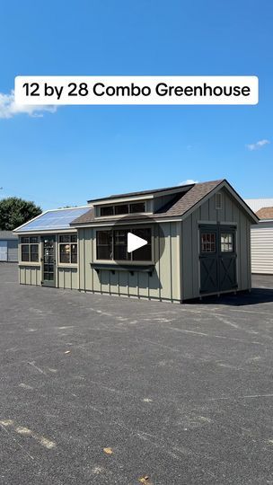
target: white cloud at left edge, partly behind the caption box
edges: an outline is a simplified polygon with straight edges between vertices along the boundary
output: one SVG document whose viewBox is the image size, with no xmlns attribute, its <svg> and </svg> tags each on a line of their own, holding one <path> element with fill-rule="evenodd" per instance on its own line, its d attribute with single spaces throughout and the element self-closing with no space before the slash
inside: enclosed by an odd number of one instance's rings
<svg viewBox="0 0 273 485">
<path fill-rule="evenodd" d="M 49 111 L 50 113 L 55 113 L 57 110 L 56 106 L 29 106 L 29 105 L 19 105 L 14 101 L 14 92 L 10 94 L 0 93 L 0 118 L 13 118 L 18 114 L 27 114 L 32 117 L 43 116 L 43 111 Z"/>
</svg>

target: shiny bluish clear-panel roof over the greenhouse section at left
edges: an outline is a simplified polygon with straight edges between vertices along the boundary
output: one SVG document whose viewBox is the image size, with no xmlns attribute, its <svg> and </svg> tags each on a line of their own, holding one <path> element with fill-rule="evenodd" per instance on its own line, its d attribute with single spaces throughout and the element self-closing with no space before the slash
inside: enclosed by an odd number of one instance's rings
<svg viewBox="0 0 273 485">
<path fill-rule="evenodd" d="M 22 231 L 46 231 L 50 229 L 69 229 L 70 223 L 76 217 L 83 216 L 85 212 L 90 210 L 90 207 L 75 207 L 64 210 L 50 210 L 45 214 L 41 214 L 37 219 L 30 221 L 24 225 Z"/>
</svg>

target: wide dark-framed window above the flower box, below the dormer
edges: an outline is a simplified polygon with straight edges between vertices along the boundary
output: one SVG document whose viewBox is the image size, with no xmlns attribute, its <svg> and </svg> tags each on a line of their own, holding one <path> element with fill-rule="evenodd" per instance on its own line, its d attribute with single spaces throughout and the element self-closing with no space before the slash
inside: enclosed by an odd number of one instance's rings
<svg viewBox="0 0 273 485">
<path fill-rule="evenodd" d="M 128 252 L 128 233 L 145 239 L 147 243 L 136 251 Z M 143 227 L 97 231 L 96 249 L 97 260 L 152 261 L 152 229 Z"/>
</svg>

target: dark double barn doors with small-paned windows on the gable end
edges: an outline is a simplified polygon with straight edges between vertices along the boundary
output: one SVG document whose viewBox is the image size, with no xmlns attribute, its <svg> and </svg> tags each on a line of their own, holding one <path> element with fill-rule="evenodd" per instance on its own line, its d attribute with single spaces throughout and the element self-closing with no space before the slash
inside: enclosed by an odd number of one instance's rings
<svg viewBox="0 0 273 485">
<path fill-rule="evenodd" d="M 200 232 L 200 293 L 221 293 L 237 287 L 235 228 L 202 225 Z"/>
</svg>

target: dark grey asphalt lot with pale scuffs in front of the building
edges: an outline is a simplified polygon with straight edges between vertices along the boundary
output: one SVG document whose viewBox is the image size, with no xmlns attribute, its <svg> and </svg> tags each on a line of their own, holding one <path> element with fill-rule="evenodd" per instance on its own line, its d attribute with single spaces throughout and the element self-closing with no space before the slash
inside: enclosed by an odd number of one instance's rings
<svg viewBox="0 0 273 485">
<path fill-rule="evenodd" d="M 19 287 L 2 263 L 1 485 L 273 483 L 273 279 L 256 282 L 160 304 Z"/>
</svg>

